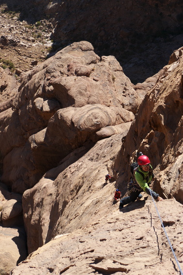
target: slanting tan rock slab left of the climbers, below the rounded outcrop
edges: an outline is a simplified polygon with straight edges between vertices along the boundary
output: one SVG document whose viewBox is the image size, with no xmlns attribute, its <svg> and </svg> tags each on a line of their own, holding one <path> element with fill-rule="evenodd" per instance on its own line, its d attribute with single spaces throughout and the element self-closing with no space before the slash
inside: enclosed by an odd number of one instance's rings
<svg viewBox="0 0 183 275">
<path fill-rule="evenodd" d="M 113 193 L 115 182 L 105 184 L 112 159 L 121 148 L 122 134 L 97 142 L 75 163 L 68 158 L 46 172 L 23 195 L 24 223 L 29 253 L 62 233 L 83 228 L 105 214 L 105 200 Z M 77 155 L 78 150 L 73 152 Z M 36 207 L 35 207 L 36 206 Z M 39 222 L 38 222 L 39 221 Z"/>
</svg>

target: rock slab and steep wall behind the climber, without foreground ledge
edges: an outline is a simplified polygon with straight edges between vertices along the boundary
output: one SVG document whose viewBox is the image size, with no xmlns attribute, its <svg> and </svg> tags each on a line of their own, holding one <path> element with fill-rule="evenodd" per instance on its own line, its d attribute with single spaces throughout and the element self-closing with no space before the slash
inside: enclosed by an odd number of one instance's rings
<svg viewBox="0 0 183 275">
<path fill-rule="evenodd" d="M 152 160 L 157 174 L 153 188 L 164 199 L 174 196 L 183 202 L 182 62 L 180 57 L 161 71 L 127 135 L 124 132 L 98 141 L 73 164 L 73 155 L 71 160 L 68 156 L 66 163 L 48 171 L 33 189 L 24 192 L 24 222 L 30 253 L 56 235 L 81 229 L 91 220 L 96 222 L 106 213 L 104 208 L 112 189 L 120 188 L 122 196 L 125 195 L 129 164 L 137 149 Z M 106 173 L 114 176 L 113 184 L 104 185 L 102 178 Z"/>
</svg>

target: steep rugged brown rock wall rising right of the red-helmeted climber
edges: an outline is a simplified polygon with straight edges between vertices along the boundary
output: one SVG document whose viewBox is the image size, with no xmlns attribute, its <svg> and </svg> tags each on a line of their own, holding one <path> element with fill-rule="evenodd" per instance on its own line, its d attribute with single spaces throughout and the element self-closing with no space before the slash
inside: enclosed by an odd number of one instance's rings
<svg viewBox="0 0 183 275">
<path fill-rule="evenodd" d="M 145 96 L 114 165 L 114 171 L 121 174 L 118 184 L 124 188 L 130 176 L 128 173 L 127 177 L 124 168 L 132 161 L 138 149 L 152 160 L 157 173 L 154 188 L 164 198 L 173 195 L 180 203 L 183 203 L 182 66 L 181 48 L 171 55 L 156 85 Z"/>
</svg>

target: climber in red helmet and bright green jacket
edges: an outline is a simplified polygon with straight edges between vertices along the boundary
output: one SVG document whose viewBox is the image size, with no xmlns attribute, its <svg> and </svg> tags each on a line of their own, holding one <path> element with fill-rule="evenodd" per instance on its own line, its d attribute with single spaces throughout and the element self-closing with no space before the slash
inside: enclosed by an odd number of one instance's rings
<svg viewBox="0 0 183 275">
<path fill-rule="evenodd" d="M 153 173 L 152 173 L 152 166 L 150 159 L 147 155 L 140 155 L 137 159 L 138 167 L 135 172 L 135 180 L 137 182 L 137 185 L 135 188 L 132 189 L 129 196 L 124 197 L 120 200 L 120 209 L 123 208 L 124 205 L 129 204 L 130 202 L 135 202 L 137 197 L 140 194 L 140 192 L 144 191 L 148 195 L 151 195 L 152 197 L 158 202 L 162 201 L 163 199 L 159 196 L 159 194 L 152 191 L 152 189 L 149 188 L 149 185 L 152 181 Z"/>
</svg>

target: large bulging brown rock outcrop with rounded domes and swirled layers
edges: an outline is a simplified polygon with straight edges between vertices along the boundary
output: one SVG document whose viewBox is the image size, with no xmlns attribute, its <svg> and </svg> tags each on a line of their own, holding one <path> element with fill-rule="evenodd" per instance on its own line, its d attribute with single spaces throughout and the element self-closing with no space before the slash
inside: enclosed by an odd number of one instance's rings
<svg viewBox="0 0 183 275">
<path fill-rule="evenodd" d="M 141 101 L 113 56 L 100 58 L 86 41 L 66 47 L 22 76 L 13 108 L 1 113 L 1 180 L 15 192 L 31 188 L 84 143 L 124 131 Z"/>
</svg>

